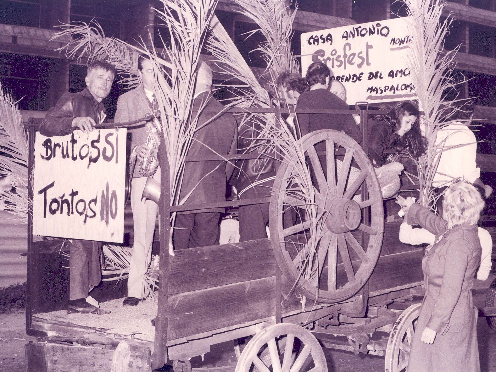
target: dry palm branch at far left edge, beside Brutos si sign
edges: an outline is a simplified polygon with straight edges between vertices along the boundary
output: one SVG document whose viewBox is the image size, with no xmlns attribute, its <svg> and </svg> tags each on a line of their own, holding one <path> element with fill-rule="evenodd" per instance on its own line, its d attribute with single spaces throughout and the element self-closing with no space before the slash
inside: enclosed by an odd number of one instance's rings
<svg viewBox="0 0 496 372">
<path fill-rule="evenodd" d="M 0 85 L 0 202 L 24 223 L 29 208 L 28 156 L 28 141 L 17 101 Z"/>
</svg>

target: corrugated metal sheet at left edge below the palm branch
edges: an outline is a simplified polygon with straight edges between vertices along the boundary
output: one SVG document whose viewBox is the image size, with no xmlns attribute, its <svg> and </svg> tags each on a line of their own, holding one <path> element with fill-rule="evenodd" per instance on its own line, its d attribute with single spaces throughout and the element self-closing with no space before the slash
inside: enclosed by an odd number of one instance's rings
<svg viewBox="0 0 496 372">
<path fill-rule="evenodd" d="M 27 225 L 17 216 L 0 211 L 0 288 L 27 280 Z"/>
</svg>

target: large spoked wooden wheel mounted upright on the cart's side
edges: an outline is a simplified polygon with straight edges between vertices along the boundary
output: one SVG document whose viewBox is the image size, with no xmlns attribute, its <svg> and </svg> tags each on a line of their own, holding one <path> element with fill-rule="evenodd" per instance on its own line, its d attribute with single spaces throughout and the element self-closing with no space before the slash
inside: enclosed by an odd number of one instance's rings
<svg viewBox="0 0 496 372">
<path fill-rule="evenodd" d="M 362 288 L 378 260 L 384 229 L 380 186 L 367 154 L 349 136 L 319 130 L 300 143 L 313 186 L 304 190 L 298 165 L 282 160 L 270 200 L 272 248 L 300 293 L 336 303 Z M 308 203 L 303 195 L 309 192 L 310 206 L 302 201 Z"/>
</svg>

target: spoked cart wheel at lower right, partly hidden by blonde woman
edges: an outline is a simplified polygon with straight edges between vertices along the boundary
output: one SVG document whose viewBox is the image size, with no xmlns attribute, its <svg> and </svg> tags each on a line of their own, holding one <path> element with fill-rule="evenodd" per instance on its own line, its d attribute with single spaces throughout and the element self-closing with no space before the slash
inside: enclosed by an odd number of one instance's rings
<svg viewBox="0 0 496 372">
<path fill-rule="evenodd" d="M 386 347 L 384 361 L 386 372 L 406 371 L 421 305 L 410 306 L 396 319 Z"/>
</svg>

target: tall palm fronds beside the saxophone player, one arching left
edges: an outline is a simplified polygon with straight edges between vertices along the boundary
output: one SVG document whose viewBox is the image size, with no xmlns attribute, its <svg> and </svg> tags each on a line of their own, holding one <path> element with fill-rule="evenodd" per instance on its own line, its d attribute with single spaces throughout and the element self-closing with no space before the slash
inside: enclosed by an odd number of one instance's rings
<svg viewBox="0 0 496 372">
<path fill-rule="evenodd" d="M 76 57 L 79 61 L 95 58 L 110 60 L 121 75 L 128 76 L 124 83 L 130 85 L 139 82 L 135 77 L 138 54 L 147 56 L 152 62 L 157 77 L 155 92 L 162 112 L 157 120 L 164 134 L 163 145 L 170 165 L 172 205 L 184 203 L 179 200 L 184 158 L 197 130 L 198 113 L 191 113 L 195 70 L 216 3 L 216 0 L 162 0 L 163 7 L 154 10 L 167 26 L 171 43 L 160 50 L 154 46 L 150 49 L 135 47 L 115 38 L 107 38 L 99 25 L 63 25 L 64 30 L 58 33 L 60 36 L 74 37 L 62 48 L 67 56 Z M 175 213 L 171 217 L 172 224 L 174 218 Z M 172 244 L 170 247 L 173 253 Z M 109 265 L 110 270 L 120 268 L 122 272 L 128 266 L 130 256 L 124 251 L 125 248 L 119 251 L 117 246 L 107 250 L 107 261 L 114 263 Z M 150 275 L 149 279 L 152 280 Z M 156 287 L 156 281 L 150 286 Z"/>
</svg>

